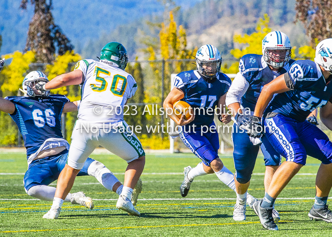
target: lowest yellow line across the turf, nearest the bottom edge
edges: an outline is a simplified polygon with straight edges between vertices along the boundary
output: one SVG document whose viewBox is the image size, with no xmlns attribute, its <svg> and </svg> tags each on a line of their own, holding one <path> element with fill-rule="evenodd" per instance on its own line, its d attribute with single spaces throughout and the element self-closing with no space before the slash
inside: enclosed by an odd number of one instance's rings
<svg viewBox="0 0 332 237">
<path fill-rule="evenodd" d="M 293 221 L 282 221 L 293 222 Z M 80 229 L 42 229 L 42 230 L 7 230 L 0 233 L 18 233 L 18 232 L 40 232 L 40 231 L 68 231 L 68 230 L 106 230 L 106 229 L 134 229 L 134 228 L 162 228 L 162 227 L 186 227 L 186 226 L 216 226 L 216 225 L 246 225 L 246 224 L 258 224 L 256 222 L 238 222 L 238 223 L 215 223 L 215 224 L 188 224 L 188 225 L 157 225 L 157 226 L 124 226 L 124 227 L 107 227 L 107 228 L 80 228 Z"/>
</svg>

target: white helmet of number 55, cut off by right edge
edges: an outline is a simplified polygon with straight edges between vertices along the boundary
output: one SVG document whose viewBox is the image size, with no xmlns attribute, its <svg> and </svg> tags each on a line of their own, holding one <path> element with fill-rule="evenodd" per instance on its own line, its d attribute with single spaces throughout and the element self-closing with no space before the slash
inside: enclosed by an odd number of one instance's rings
<svg viewBox="0 0 332 237">
<path fill-rule="evenodd" d="M 315 63 L 332 71 L 332 38 L 324 39 L 316 46 Z"/>
</svg>

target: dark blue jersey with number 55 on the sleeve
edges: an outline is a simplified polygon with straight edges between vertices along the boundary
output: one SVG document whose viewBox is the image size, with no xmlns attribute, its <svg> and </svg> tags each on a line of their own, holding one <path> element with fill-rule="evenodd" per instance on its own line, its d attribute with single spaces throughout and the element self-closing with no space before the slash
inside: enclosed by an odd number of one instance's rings
<svg viewBox="0 0 332 237">
<path fill-rule="evenodd" d="M 303 122 L 311 111 L 331 99 L 332 83 L 326 85 L 319 65 L 311 60 L 295 61 L 284 78 L 291 90 L 273 98 L 265 110 L 267 117 L 282 114 Z"/>
</svg>

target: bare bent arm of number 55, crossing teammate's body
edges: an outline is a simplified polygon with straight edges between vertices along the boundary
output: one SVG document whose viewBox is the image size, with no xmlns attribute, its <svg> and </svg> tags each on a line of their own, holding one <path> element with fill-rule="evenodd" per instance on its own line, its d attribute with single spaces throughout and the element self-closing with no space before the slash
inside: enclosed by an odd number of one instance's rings
<svg viewBox="0 0 332 237">
<path fill-rule="evenodd" d="M 282 93 L 291 90 L 287 87 L 286 81 L 284 80 L 284 74 L 280 75 L 276 79 L 274 79 L 269 84 L 266 84 L 263 87 L 262 92 L 260 92 L 256 107 L 254 116 L 256 117 L 262 117 L 264 110 L 270 103 L 270 101 L 273 98 L 273 95 L 276 93 Z"/>
</svg>

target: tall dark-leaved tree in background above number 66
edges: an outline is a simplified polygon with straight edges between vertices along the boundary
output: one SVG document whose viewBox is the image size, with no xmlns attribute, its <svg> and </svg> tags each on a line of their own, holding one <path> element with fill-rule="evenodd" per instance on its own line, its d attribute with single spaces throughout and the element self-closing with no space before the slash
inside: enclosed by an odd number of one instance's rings
<svg viewBox="0 0 332 237">
<path fill-rule="evenodd" d="M 34 16 L 29 23 L 29 31 L 25 51 L 36 52 L 39 62 L 50 63 L 54 60 L 54 54 L 65 54 L 72 51 L 73 45 L 62 33 L 59 26 L 55 25 L 52 9 L 52 0 L 30 0 L 35 6 Z M 27 9 L 29 0 L 22 0 L 20 8 Z M 47 3 L 48 2 L 48 3 Z"/>
</svg>

